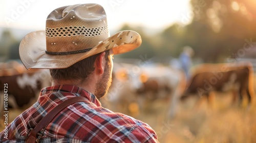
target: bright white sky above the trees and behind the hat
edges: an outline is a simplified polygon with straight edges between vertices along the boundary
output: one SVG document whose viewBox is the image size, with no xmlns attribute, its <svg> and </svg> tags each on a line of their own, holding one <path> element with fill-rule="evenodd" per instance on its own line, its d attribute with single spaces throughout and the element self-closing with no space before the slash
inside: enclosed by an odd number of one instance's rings
<svg viewBox="0 0 256 143">
<path fill-rule="evenodd" d="M 104 7 L 110 30 L 123 23 L 164 29 L 174 22 L 187 24 L 189 0 L 1 0 L 0 27 L 45 30 L 48 14 L 62 6 L 97 3 Z"/>
</svg>

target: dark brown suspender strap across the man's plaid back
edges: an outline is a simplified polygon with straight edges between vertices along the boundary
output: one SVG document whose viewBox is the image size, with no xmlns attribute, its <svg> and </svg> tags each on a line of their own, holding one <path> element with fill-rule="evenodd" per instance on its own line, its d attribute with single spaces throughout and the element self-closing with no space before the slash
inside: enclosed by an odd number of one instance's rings
<svg viewBox="0 0 256 143">
<path fill-rule="evenodd" d="M 42 119 L 41 121 L 35 126 L 35 128 L 30 128 L 25 142 L 28 143 L 32 143 L 32 142 L 39 142 L 39 139 L 37 138 L 37 134 L 41 129 L 44 129 L 48 126 L 49 123 L 51 123 L 51 121 L 53 120 L 53 118 L 63 109 L 65 109 L 66 107 L 68 107 L 69 105 L 72 105 L 73 103 L 77 103 L 77 102 L 84 102 L 85 100 L 87 100 L 84 97 L 74 97 L 71 99 L 68 99 L 62 103 L 60 103 L 59 105 L 57 105 L 55 108 L 53 108 L 49 113 L 47 113 Z M 42 135 L 41 135 L 42 136 Z M 41 137 L 40 136 L 40 137 Z"/>
</svg>

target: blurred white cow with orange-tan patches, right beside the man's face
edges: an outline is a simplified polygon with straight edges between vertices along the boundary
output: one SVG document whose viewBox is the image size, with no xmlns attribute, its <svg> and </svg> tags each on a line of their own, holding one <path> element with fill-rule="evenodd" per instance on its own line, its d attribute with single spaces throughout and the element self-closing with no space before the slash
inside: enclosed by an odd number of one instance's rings
<svg viewBox="0 0 256 143">
<path fill-rule="evenodd" d="M 102 106 L 116 112 L 138 115 L 139 105 L 136 92 L 142 86 L 140 70 L 140 67 L 135 64 L 115 63 L 108 94 L 100 99 Z"/>
</svg>

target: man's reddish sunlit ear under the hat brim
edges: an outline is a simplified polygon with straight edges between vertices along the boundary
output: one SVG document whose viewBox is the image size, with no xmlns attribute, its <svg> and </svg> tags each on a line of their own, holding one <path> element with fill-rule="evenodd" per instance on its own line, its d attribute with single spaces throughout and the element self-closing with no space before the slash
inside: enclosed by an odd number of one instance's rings
<svg viewBox="0 0 256 143">
<path fill-rule="evenodd" d="M 96 73 L 97 74 L 103 74 L 103 72 L 104 72 L 104 63 L 106 62 L 105 61 L 105 52 L 101 52 L 100 54 L 99 54 L 99 56 L 96 58 L 96 60 L 95 60 L 95 63 L 94 63 L 94 66 L 95 66 L 95 71 L 96 71 Z"/>
</svg>

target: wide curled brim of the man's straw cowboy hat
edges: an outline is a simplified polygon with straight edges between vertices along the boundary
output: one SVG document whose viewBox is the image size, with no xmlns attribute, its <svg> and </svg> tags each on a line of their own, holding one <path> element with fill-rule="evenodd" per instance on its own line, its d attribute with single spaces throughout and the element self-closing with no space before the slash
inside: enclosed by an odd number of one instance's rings
<svg viewBox="0 0 256 143">
<path fill-rule="evenodd" d="M 98 54 L 100 52 L 113 49 L 114 54 L 122 54 L 132 51 L 141 45 L 141 37 L 134 31 L 120 31 L 108 39 L 98 43 L 88 52 L 66 55 L 46 54 L 46 33 L 45 31 L 35 31 L 26 35 L 19 45 L 19 56 L 27 69 L 41 68 L 67 68 L 74 63 Z"/>
</svg>

